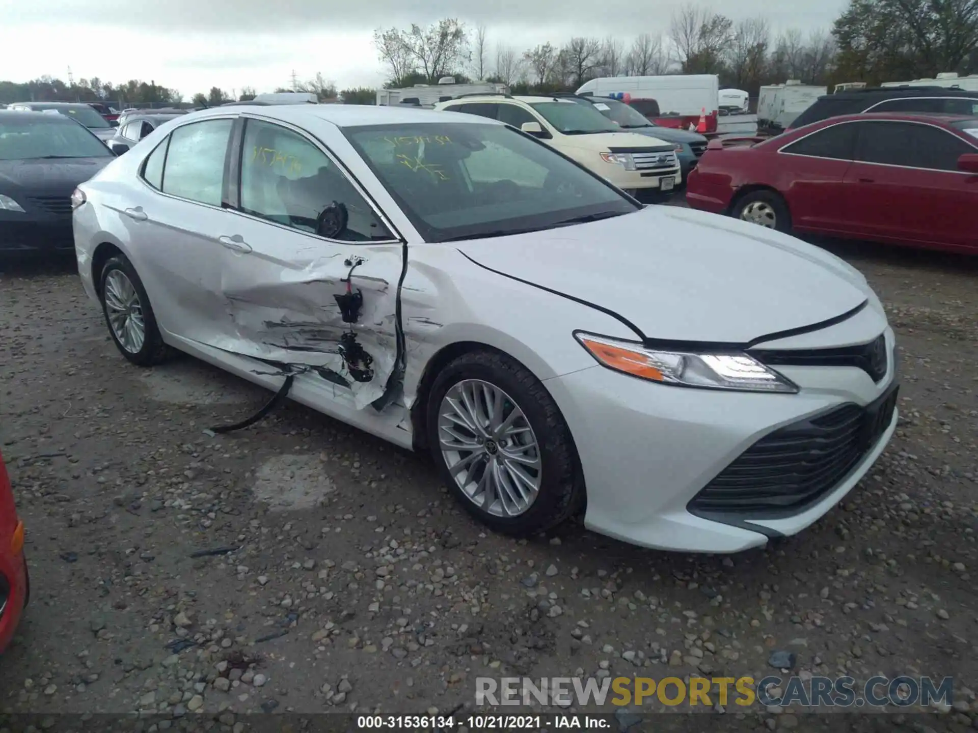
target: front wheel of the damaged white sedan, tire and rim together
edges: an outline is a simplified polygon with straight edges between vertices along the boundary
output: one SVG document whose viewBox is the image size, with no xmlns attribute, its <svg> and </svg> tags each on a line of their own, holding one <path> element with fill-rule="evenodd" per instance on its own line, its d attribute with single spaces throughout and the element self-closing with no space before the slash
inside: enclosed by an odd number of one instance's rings
<svg viewBox="0 0 978 733">
<path fill-rule="evenodd" d="M 438 374 L 427 431 L 445 483 L 494 530 L 543 532 L 584 501 L 577 453 L 554 399 L 503 354 L 465 354 Z"/>
</svg>

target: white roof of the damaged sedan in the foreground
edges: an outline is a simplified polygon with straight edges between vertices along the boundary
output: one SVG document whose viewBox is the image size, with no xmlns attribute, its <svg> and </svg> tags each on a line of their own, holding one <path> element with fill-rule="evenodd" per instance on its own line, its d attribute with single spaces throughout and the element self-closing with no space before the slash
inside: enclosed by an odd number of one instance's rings
<svg viewBox="0 0 978 733">
<path fill-rule="evenodd" d="M 492 98 L 489 98 L 492 99 Z M 301 124 L 310 118 L 322 119 L 336 127 L 357 127 L 360 125 L 418 124 L 452 122 L 460 124 L 503 124 L 493 119 L 471 114 L 406 107 L 378 107 L 375 105 L 252 105 L 241 107 L 215 107 L 200 109 L 181 117 L 204 119 L 232 113 L 252 112 L 258 116 L 273 117 L 285 122 Z"/>
</svg>

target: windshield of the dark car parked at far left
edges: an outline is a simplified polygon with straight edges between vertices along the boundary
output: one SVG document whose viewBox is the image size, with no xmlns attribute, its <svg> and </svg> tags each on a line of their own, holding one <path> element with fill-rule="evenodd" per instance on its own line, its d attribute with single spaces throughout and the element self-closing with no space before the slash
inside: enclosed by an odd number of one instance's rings
<svg viewBox="0 0 978 733">
<path fill-rule="evenodd" d="M 52 116 L 0 117 L 0 160 L 111 156 L 84 127 Z"/>
</svg>

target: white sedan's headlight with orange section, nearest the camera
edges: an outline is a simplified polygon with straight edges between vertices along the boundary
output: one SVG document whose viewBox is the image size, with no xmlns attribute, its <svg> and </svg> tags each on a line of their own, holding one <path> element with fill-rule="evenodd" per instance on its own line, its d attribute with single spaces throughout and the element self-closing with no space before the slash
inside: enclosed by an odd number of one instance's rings
<svg viewBox="0 0 978 733">
<path fill-rule="evenodd" d="M 798 392 L 793 382 L 747 354 L 660 351 L 590 333 L 574 336 L 600 365 L 660 384 L 742 392 Z"/>
</svg>

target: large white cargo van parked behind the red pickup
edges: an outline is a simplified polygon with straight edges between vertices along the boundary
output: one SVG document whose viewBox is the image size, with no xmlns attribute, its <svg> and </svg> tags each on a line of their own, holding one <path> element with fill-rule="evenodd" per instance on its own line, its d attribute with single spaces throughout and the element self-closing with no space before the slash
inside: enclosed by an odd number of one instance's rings
<svg viewBox="0 0 978 733">
<path fill-rule="evenodd" d="M 587 81 L 577 94 L 614 97 L 636 108 L 662 127 L 712 135 L 720 114 L 720 78 L 716 74 L 666 74 L 665 76 L 602 76 Z M 700 115 L 705 130 L 696 129 Z"/>
</svg>

